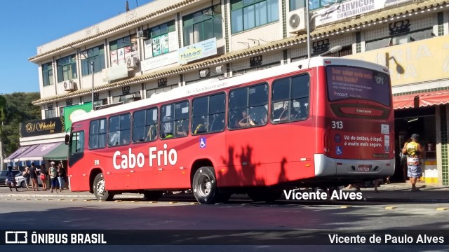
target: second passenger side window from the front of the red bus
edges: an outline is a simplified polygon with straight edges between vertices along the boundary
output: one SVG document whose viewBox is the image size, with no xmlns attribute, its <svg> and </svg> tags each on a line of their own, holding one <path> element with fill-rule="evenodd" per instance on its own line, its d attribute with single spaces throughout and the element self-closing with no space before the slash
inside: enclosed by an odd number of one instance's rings
<svg viewBox="0 0 449 252">
<path fill-rule="evenodd" d="M 122 146 L 129 144 L 131 137 L 131 114 L 109 118 L 109 146 Z"/>
</svg>

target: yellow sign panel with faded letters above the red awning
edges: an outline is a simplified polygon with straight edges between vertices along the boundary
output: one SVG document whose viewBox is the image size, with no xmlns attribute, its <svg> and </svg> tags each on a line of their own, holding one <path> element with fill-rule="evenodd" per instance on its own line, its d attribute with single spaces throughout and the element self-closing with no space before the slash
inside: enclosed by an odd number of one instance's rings
<svg viewBox="0 0 449 252">
<path fill-rule="evenodd" d="M 344 56 L 389 66 L 391 85 L 424 83 L 449 78 L 449 36 Z"/>
</svg>

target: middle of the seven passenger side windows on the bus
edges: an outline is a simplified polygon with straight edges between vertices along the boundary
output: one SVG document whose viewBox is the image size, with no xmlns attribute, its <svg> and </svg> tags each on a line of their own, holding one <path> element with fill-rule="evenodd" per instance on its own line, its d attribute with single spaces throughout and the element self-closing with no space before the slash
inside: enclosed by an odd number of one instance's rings
<svg viewBox="0 0 449 252">
<path fill-rule="evenodd" d="M 189 101 L 161 106 L 161 139 L 189 134 Z"/>
</svg>

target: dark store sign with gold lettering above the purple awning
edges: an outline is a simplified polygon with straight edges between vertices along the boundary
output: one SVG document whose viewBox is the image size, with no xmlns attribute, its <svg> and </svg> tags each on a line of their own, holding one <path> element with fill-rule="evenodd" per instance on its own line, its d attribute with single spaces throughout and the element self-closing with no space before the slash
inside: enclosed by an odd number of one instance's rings
<svg viewBox="0 0 449 252">
<path fill-rule="evenodd" d="M 63 118 L 33 120 L 20 125 L 20 137 L 35 137 L 64 132 Z"/>
</svg>

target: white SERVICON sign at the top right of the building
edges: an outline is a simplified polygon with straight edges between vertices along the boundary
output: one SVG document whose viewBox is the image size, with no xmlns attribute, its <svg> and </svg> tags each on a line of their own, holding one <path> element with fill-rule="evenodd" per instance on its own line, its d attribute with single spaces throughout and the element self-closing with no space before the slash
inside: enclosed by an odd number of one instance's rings
<svg viewBox="0 0 449 252">
<path fill-rule="evenodd" d="M 349 0 L 318 10 L 315 26 L 326 25 L 330 22 L 344 20 L 356 15 L 368 13 L 382 8 L 396 6 L 413 0 Z"/>
</svg>

